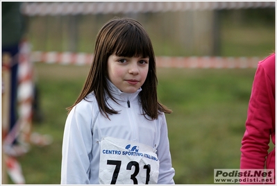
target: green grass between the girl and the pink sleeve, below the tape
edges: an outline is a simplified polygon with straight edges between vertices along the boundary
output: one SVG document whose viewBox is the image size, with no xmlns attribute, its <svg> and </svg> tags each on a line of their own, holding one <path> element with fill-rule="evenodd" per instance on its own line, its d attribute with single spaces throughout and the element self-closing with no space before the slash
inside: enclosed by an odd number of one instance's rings
<svg viewBox="0 0 277 186">
<path fill-rule="evenodd" d="M 213 169 L 240 167 L 253 69 L 160 69 L 176 183 L 213 183 Z"/>
</svg>

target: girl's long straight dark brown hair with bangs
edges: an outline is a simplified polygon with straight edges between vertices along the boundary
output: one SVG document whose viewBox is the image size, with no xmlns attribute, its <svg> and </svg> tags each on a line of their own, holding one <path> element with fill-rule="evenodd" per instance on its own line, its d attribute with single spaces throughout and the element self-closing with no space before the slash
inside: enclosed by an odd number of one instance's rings
<svg viewBox="0 0 277 186">
<path fill-rule="evenodd" d="M 109 108 L 106 103 L 108 94 L 110 99 L 115 101 L 110 94 L 108 78 L 108 57 L 115 53 L 117 56 L 149 58 L 149 71 L 140 92 L 140 102 L 143 114 L 151 119 L 157 119 L 160 112 L 171 113 L 165 105 L 158 101 L 156 76 L 156 60 L 149 35 L 146 33 L 142 24 L 131 18 L 115 18 L 107 22 L 96 36 L 94 59 L 90 67 L 83 90 L 75 101 L 74 105 L 67 108 L 68 112 L 85 99 L 87 94 L 94 92 L 96 101 L 102 115 L 117 114 L 116 110 Z"/>
</svg>

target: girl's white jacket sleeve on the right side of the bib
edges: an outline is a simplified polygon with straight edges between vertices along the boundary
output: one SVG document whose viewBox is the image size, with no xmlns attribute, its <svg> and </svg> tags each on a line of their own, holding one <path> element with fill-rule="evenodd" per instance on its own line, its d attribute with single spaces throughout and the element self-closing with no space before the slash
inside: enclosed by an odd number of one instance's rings
<svg viewBox="0 0 277 186">
<path fill-rule="evenodd" d="M 162 113 L 162 125 L 160 128 L 160 144 L 157 148 L 158 159 L 160 160 L 160 170 L 158 184 L 174 184 L 175 170 L 171 164 L 171 154 L 169 151 L 169 139 L 167 132 L 167 121 Z"/>
</svg>

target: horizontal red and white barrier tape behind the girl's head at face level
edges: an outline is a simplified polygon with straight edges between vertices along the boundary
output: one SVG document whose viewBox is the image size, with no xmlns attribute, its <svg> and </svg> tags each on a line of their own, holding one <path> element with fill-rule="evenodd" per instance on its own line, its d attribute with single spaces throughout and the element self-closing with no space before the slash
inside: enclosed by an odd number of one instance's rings
<svg viewBox="0 0 277 186">
<path fill-rule="evenodd" d="M 42 52 L 33 51 L 31 55 L 33 62 L 58 63 L 61 65 L 90 65 L 93 54 L 70 53 L 70 52 Z M 256 68 L 260 57 L 167 57 L 157 56 L 157 67 L 168 68 Z"/>
</svg>

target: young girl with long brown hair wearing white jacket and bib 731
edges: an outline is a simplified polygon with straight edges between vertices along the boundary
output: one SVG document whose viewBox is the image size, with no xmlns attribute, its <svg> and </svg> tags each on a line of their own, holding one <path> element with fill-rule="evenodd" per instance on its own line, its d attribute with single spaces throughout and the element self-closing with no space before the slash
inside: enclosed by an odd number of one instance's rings
<svg viewBox="0 0 277 186">
<path fill-rule="evenodd" d="M 61 184 L 174 184 L 167 122 L 149 35 L 130 18 L 96 37 L 94 60 L 69 107 Z"/>
</svg>

